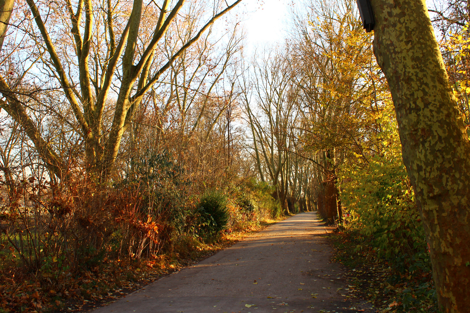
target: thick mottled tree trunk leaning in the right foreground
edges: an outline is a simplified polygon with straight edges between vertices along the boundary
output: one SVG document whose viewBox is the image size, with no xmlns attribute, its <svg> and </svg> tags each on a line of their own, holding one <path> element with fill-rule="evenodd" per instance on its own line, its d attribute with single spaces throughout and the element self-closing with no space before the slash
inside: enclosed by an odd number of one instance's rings
<svg viewBox="0 0 470 313">
<path fill-rule="evenodd" d="M 439 306 L 470 307 L 470 145 L 423 0 L 371 0 L 403 162 L 421 210 Z"/>
</svg>

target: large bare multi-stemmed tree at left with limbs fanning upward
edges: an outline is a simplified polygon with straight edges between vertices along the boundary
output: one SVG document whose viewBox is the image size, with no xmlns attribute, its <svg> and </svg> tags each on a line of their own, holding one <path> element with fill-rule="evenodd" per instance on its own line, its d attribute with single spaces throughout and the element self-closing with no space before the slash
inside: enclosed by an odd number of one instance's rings
<svg viewBox="0 0 470 313">
<path fill-rule="evenodd" d="M 40 58 L 40 68 L 59 82 L 60 96 L 73 111 L 73 123 L 78 125 L 83 138 L 89 171 L 102 176 L 110 174 L 123 134 L 131 125 L 145 94 L 217 19 L 240 1 L 227 6 L 225 2 L 219 4 L 216 1 L 212 12 L 197 10 L 196 2 L 188 2 L 189 11 L 184 12 L 185 0 L 174 3 L 162 0 L 159 5 L 155 2 L 144 5 L 142 0 L 134 0 L 132 8 L 127 7 L 127 3 L 111 0 L 78 0 L 75 3 L 66 0 L 54 4 L 26 0 L 35 22 L 34 27 L 27 28 L 26 34 L 35 42 L 36 53 L 48 55 Z M 204 6 L 199 5 L 199 8 Z M 150 19 L 153 15 L 158 18 Z M 179 15 L 183 15 L 180 20 Z M 61 18 L 63 23 L 55 25 Z M 167 61 L 161 62 L 162 55 L 157 53 L 157 48 L 165 34 L 171 31 L 174 23 L 192 19 L 198 22 L 190 27 L 192 35 L 180 42 Z M 207 22 L 201 24 L 202 19 Z M 147 37 L 145 31 L 142 32 L 143 22 L 146 29 L 152 27 Z M 60 31 L 56 31 L 57 27 Z M 64 40 L 61 37 L 64 34 L 70 34 L 71 40 Z M 5 76 L 0 77 L 0 89 L 5 97 L 0 106 L 24 127 L 51 173 L 61 177 L 64 171 L 62 155 L 42 137 L 27 106 L 18 97 L 21 86 L 15 83 L 9 84 Z M 116 95 L 112 105 L 110 95 Z M 109 130 L 103 128 L 106 113 L 112 115 Z"/>
</svg>

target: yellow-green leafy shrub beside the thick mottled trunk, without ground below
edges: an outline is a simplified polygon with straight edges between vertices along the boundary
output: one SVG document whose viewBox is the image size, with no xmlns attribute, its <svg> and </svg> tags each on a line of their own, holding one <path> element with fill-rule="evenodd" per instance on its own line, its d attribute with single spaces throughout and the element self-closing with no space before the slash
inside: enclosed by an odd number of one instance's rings
<svg viewBox="0 0 470 313">
<path fill-rule="evenodd" d="M 343 172 L 342 203 L 353 213 L 351 228 L 360 230 L 379 258 L 396 266 L 429 263 L 427 244 L 413 188 L 399 146 L 374 156 L 367 167 Z M 358 247 L 360 249 L 360 247 Z M 400 258 L 407 255 L 407 260 Z"/>
</svg>

